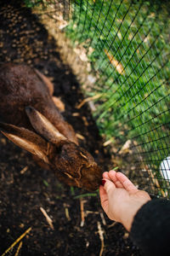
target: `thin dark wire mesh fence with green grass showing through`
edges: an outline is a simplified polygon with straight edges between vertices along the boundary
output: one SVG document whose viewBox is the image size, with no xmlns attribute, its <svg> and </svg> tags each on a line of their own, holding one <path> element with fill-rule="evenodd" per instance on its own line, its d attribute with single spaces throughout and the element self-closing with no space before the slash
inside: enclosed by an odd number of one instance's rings
<svg viewBox="0 0 170 256">
<path fill-rule="evenodd" d="M 168 1 L 35 1 L 67 20 L 66 35 L 81 44 L 99 95 L 99 131 L 128 148 L 139 186 L 170 196 L 170 20 Z M 40 4 L 41 3 L 41 4 Z M 121 146 L 120 146 L 121 147 Z M 129 172 L 130 173 L 130 172 Z"/>
</svg>

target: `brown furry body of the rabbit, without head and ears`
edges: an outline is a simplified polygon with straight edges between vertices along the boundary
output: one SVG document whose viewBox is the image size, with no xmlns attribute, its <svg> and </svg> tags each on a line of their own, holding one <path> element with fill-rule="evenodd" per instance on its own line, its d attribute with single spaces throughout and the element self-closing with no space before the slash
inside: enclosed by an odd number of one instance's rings
<svg viewBox="0 0 170 256">
<path fill-rule="evenodd" d="M 31 67 L 13 63 L 0 67 L 0 96 L 0 119 L 3 122 L 32 130 L 25 112 L 26 106 L 32 106 L 65 137 L 77 143 L 73 128 L 65 122 L 52 101 L 48 87 Z"/>
</svg>

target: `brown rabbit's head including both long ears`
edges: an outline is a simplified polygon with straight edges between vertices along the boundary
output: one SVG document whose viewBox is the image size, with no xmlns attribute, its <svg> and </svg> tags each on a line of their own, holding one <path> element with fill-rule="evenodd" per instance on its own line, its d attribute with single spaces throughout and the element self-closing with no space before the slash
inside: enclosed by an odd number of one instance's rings
<svg viewBox="0 0 170 256">
<path fill-rule="evenodd" d="M 98 189 L 102 172 L 93 156 L 69 141 L 35 108 L 26 107 L 26 114 L 35 132 L 0 123 L 3 135 L 48 164 L 59 181 L 89 191 Z"/>
</svg>

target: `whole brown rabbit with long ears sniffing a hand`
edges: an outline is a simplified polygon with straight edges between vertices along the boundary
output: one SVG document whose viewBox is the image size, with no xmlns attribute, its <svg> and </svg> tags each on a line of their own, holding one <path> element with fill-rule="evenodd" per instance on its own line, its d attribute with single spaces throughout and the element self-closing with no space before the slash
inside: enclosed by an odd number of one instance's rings
<svg viewBox="0 0 170 256">
<path fill-rule="evenodd" d="M 78 146 L 77 137 L 54 103 L 53 84 L 37 70 L 12 63 L 0 66 L 0 130 L 36 156 L 59 181 L 94 191 L 102 172 Z"/>
</svg>

